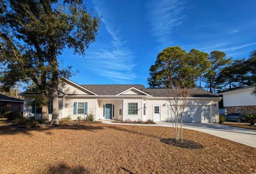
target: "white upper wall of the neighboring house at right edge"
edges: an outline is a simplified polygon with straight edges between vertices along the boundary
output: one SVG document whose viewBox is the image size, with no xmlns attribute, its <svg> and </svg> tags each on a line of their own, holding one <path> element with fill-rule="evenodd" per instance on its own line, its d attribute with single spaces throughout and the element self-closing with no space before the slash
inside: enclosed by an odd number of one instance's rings
<svg viewBox="0 0 256 174">
<path fill-rule="evenodd" d="M 253 89 L 234 91 L 223 94 L 223 106 L 256 106 L 256 97 Z"/>
</svg>

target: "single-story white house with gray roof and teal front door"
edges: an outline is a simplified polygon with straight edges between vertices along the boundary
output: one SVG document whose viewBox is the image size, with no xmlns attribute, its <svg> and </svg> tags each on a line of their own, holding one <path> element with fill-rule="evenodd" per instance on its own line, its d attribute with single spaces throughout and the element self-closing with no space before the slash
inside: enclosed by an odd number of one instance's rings
<svg viewBox="0 0 256 174">
<path fill-rule="evenodd" d="M 143 85 L 79 85 L 62 78 L 65 88 L 59 90 L 59 118 L 85 118 L 90 112 L 95 119 L 171 121 L 168 101 L 170 89 L 146 89 Z M 32 107 L 36 94 L 25 91 L 24 116 L 40 118 L 42 109 Z M 212 123 L 218 120 L 218 95 L 196 89 L 188 101 L 183 121 Z M 49 111 L 51 105 L 49 105 Z M 51 114 L 49 115 L 51 118 Z"/>
</svg>

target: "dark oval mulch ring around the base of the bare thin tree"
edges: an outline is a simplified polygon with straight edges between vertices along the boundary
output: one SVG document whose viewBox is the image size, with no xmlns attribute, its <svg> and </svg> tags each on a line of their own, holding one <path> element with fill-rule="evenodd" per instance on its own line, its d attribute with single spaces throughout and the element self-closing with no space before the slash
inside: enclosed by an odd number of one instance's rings
<svg viewBox="0 0 256 174">
<path fill-rule="evenodd" d="M 160 142 L 181 147 L 183 149 L 204 149 L 203 145 L 191 140 L 176 141 L 174 138 L 162 138 L 160 139 Z"/>
</svg>

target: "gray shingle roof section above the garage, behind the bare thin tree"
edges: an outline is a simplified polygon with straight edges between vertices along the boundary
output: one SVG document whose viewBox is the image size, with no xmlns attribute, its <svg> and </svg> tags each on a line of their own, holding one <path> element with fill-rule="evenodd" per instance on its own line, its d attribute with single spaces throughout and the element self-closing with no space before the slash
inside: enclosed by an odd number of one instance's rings
<svg viewBox="0 0 256 174">
<path fill-rule="evenodd" d="M 171 97 L 170 93 L 175 89 L 145 89 L 144 92 L 153 95 L 153 97 Z M 203 89 L 194 89 L 191 97 L 219 97 L 209 91 L 205 91 Z"/>
</svg>

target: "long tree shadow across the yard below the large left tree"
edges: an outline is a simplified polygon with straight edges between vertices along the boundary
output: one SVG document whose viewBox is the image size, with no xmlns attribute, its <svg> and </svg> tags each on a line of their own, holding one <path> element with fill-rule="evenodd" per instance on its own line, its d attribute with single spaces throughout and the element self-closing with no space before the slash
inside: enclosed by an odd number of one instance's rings
<svg viewBox="0 0 256 174">
<path fill-rule="evenodd" d="M 83 130 L 83 131 L 96 131 L 103 129 L 104 127 L 101 125 L 93 125 L 93 124 L 73 124 L 73 125 L 59 125 L 59 126 L 40 126 L 35 128 L 26 128 L 21 127 L 19 125 L 1 125 L 0 126 L 0 135 L 14 135 L 14 134 L 26 134 L 32 135 L 31 131 L 45 132 L 45 134 L 50 135 L 51 130 L 53 129 L 71 129 L 71 130 Z"/>
</svg>

